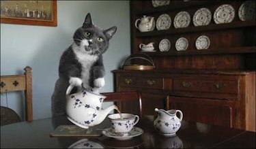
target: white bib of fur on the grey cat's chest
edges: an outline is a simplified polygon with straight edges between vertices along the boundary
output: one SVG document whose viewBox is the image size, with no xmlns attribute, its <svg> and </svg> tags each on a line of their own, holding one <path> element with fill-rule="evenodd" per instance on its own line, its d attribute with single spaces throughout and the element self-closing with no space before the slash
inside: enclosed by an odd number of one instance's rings
<svg viewBox="0 0 256 149">
<path fill-rule="evenodd" d="M 76 44 L 72 45 L 72 50 L 76 55 L 76 59 L 82 65 L 81 79 L 83 81 L 83 85 L 85 88 L 91 88 L 89 86 L 89 71 L 91 69 L 91 65 L 93 65 L 94 62 L 98 60 L 98 56 L 87 54 L 83 46 L 76 46 Z"/>
</svg>

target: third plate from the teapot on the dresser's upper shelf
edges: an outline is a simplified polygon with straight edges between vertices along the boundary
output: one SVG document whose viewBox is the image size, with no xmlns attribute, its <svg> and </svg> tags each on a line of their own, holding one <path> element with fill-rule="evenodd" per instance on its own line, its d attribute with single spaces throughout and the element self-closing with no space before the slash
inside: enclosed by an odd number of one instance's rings
<svg viewBox="0 0 256 149">
<path fill-rule="evenodd" d="M 212 20 L 212 13 L 205 7 L 200 8 L 193 16 L 193 24 L 197 26 L 208 25 Z"/>
</svg>

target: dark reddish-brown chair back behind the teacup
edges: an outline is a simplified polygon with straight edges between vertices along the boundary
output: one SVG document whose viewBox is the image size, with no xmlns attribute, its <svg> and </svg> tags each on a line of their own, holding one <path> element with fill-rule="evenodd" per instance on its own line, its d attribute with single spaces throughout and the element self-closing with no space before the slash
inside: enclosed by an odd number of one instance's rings
<svg viewBox="0 0 256 149">
<path fill-rule="evenodd" d="M 101 94 L 106 96 L 104 102 L 113 101 L 120 112 L 137 114 L 140 117 L 143 115 L 143 106 L 141 105 L 142 96 L 139 90 Z"/>
</svg>

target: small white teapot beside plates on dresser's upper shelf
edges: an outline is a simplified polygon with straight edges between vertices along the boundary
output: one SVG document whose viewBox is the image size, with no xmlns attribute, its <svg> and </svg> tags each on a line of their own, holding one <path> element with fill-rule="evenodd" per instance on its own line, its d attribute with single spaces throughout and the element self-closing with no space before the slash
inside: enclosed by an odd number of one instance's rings
<svg viewBox="0 0 256 149">
<path fill-rule="evenodd" d="M 139 27 L 138 27 L 138 22 L 139 23 Z M 155 28 L 155 20 L 154 17 L 152 16 L 143 16 L 143 18 L 138 18 L 135 22 L 135 27 L 137 29 L 139 29 L 139 31 L 141 32 L 145 32 L 145 31 L 153 31 Z"/>
</svg>

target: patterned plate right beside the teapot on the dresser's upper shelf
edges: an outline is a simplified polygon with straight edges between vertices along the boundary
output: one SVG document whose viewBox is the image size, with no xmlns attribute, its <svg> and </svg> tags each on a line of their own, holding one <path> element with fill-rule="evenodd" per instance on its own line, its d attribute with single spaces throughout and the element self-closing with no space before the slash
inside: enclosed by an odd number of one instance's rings
<svg viewBox="0 0 256 149">
<path fill-rule="evenodd" d="M 168 14 L 162 14 L 156 20 L 156 29 L 165 30 L 171 27 L 171 17 Z"/>
</svg>

